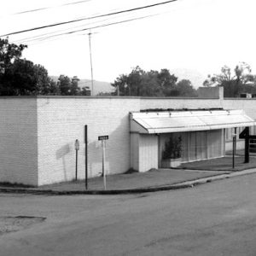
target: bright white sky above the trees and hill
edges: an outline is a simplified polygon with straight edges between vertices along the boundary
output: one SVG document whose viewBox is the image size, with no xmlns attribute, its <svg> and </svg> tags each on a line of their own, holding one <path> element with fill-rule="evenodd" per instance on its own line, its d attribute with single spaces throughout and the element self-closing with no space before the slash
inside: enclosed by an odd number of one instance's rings
<svg viewBox="0 0 256 256">
<path fill-rule="evenodd" d="M 4 0 L 0 35 L 161 2 L 164 1 Z M 187 79 L 185 74 L 189 73 L 191 79 L 200 77 L 192 81 L 198 87 L 208 74 L 219 73 L 224 65 L 234 69 L 240 61 L 247 62 L 256 73 L 255 9 L 255 0 L 177 0 L 9 35 L 9 42 L 27 44 L 23 57 L 43 65 L 49 75 L 90 79 L 91 46 L 96 80 L 113 82 L 120 74 L 140 66 L 146 71 L 179 70 L 182 75 L 178 79 Z M 26 12 L 29 10 L 33 11 Z M 122 23 L 102 26 L 119 21 Z M 95 26 L 102 27 L 52 37 Z"/>
</svg>

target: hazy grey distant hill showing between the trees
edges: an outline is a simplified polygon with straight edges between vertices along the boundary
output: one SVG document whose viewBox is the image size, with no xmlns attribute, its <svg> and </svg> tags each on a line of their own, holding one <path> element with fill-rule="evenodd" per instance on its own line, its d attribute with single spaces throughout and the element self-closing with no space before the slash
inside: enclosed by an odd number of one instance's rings
<svg viewBox="0 0 256 256">
<path fill-rule="evenodd" d="M 59 77 L 50 76 L 50 78 L 53 79 L 55 82 L 57 82 Z M 88 86 L 91 90 L 90 79 L 80 79 L 79 87 L 82 88 L 84 86 Z M 111 84 L 108 83 L 108 82 L 102 82 L 102 81 L 94 80 L 93 81 L 93 90 L 94 90 L 94 95 L 96 96 L 100 92 L 112 92 L 113 91 L 113 86 L 111 86 Z"/>
</svg>

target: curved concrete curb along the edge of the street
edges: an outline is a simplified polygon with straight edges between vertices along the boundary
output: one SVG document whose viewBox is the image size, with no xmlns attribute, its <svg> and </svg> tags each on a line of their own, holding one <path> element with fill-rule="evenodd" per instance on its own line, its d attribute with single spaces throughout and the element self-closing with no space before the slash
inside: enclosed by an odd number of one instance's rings
<svg viewBox="0 0 256 256">
<path fill-rule="evenodd" d="M 220 174 L 212 177 L 202 177 L 192 181 L 175 183 L 170 185 L 138 188 L 138 189 L 109 189 L 109 190 L 54 190 L 54 189 L 23 189 L 23 188 L 4 188 L 0 187 L 0 193 L 17 193 L 17 194 L 33 194 L 33 195 L 125 195 L 125 194 L 140 194 L 148 192 L 157 192 L 174 189 L 193 188 L 197 185 L 210 183 L 224 178 L 238 177 L 256 173 L 256 169 L 248 169 L 240 172 L 231 172 Z"/>
</svg>

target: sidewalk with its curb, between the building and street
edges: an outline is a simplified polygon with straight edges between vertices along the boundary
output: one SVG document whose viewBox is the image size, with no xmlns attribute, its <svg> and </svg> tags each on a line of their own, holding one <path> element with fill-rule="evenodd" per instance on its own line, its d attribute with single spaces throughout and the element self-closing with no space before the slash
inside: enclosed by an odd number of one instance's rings
<svg viewBox="0 0 256 256">
<path fill-rule="evenodd" d="M 116 174 L 108 176 L 106 178 L 106 189 L 104 189 L 103 178 L 94 177 L 88 180 L 87 190 L 85 190 L 84 181 L 74 181 L 45 185 L 36 189 L 21 188 L 19 186 L 0 186 L 0 192 L 49 195 L 115 195 L 144 193 L 189 188 L 201 183 L 208 183 L 214 180 L 251 173 L 256 173 L 256 168 L 240 172 L 160 169 L 144 173 L 133 172 L 130 174 Z"/>
</svg>

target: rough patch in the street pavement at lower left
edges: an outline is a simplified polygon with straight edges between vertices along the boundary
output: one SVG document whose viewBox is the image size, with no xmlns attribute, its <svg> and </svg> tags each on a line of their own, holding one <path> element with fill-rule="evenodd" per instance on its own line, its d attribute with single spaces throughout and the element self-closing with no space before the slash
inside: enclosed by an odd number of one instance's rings
<svg viewBox="0 0 256 256">
<path fill-rule="evenodd" d="M 42 223 L 45 219 L 31 216 L 0 217 L 0 236 L 9 232 L 25 230 L 33 224 Z"/>
</svg>

